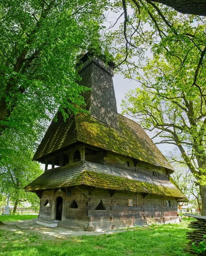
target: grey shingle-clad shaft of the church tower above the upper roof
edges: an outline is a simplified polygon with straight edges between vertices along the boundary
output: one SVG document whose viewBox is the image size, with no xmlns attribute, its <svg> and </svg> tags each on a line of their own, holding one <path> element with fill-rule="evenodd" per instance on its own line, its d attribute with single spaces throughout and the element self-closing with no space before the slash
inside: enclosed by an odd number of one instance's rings
<svg viewBox="0 0 206 256">
<path fill-rule="evenodd" d="M 118 128 L 112 74 L 106 70 L 106 67 L 100 67 L 92 61 L 80 71 L 79 75 L 82 78 L 79 84 L 92 89 L 84 95 L 87 110 L 90 111 L 91 116 L 107 125 Z"/>
</svg>

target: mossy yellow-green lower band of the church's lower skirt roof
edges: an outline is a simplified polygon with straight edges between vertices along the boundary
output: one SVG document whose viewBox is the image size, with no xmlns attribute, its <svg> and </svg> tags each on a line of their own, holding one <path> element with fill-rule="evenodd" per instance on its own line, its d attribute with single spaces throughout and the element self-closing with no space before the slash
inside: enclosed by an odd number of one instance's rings
<svg viewBox="0 0 206 256">
<path fill-rule="evenodd" d="M 46 175 L 43 174 L 42 176 L 44 177 Z M 54 189 L 60 187 L 87 185 L 101 189 L 144 192 L 155 195 L 181 198 L 182 201 L 187 200 L 185 195 L 177 187 L 159 186 L 151 183 L 145 183 L 138 180 L 131 180 L 129 178 L 122 178 L 94 171 L 84 170 L 83 172 L 79 172 L 78 175 L 73 175 L 73 177 L 69 179 L 56 179 L 53 180 L 53 183 L 50 184 L 47 182 L 48 179 L 43 179 L 40 181 L 41 182 L 33 182 L 33 184 L 30 183 L 28 186 L 26 186 L 26 190 L 35 191 L 39 189 Z"/>
</svg>

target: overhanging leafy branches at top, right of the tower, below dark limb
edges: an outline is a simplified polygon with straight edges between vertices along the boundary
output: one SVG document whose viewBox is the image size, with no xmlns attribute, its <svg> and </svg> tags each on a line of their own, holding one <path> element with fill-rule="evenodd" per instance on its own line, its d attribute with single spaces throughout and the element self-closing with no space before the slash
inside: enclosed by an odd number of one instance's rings
<svg viewBox="0 0 206 256">
<path fill-rule="evenodd" d="M 147 61 L 148 51 L 163 50 L 174 56 L 174 48 L 169 47 L 174 41 L 180 43 L 180 48 L 188 44 L 183 60 L 190 57 L 187 52 L 191 47 L 197 47 L 199 55 L 205 53 L 205 17 L 179 14 L 168 6 L 150 0 L 115 1 L 111 10 L 120 15 L 111 23 L 112 31 L 107 29 L 109 32 L 106 35 L 120 70 L 122 64 L 136 64 L 141 68 L 142 62 Z M 201 47 L 198 48 L 199 45 Z"/>
</svg>

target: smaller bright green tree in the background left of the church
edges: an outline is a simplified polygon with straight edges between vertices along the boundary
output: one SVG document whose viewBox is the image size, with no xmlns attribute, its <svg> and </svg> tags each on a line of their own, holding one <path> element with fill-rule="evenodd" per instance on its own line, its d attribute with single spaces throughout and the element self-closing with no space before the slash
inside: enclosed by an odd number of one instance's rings
<svg viewBox="0 0 206 256">
<path fill-rule="evenodd" d="M 0 166 L 1 192 L 10 195 L 10 201 L 14 203 L 13 214 L 20 203 L 27 201 L 32 206 L 39 205 L 38 196 L 32 192 L 25 192 L 23 189 L 43 172 L 40 164 L 32 161 L 32 155 L 30 151 L 13 151 L 7 163 L 4 161 L 4 164 Z"/>
</svg>

